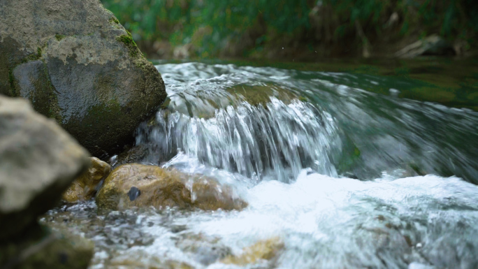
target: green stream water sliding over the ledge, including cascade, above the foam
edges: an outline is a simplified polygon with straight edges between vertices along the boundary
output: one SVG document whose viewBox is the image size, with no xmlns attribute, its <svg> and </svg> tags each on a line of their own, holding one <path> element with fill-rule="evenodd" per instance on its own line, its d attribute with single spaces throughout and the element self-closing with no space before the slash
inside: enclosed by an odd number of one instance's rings
<svg viewBox="0 0 478 269">
<path fill-rule="evenodd" d="M 362 89 L 412 82 L 233 64 L 157 68 L 167 108 L 140 127 L 136 145 L 147 156 L 137 161 L 158 164 L 182 152 L 252 181 L 289 182 L 312 168 L 362 180 L 400 170 L 478 182 L 476 112 Z"/>
</svg>

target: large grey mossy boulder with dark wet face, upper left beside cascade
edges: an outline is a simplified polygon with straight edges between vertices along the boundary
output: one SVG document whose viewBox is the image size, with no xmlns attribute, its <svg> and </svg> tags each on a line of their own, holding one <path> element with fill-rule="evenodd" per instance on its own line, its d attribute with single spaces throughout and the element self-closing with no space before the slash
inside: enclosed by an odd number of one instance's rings
<svg viewBox="0 0 478 269">
<path fill-rule="evenodd" d="M 0 1 L 0 94 L 29 99 L 94 156 L 113 154 L 166 98 L 99 0 Z"/>
</svg>

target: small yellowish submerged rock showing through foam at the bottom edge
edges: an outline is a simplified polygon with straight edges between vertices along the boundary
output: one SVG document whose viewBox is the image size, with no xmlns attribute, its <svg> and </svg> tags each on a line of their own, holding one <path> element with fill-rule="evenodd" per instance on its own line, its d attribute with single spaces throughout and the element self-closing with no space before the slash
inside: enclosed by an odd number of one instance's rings
<svg viewBox="0 0 478 269">
<path fill-rule="evenodd" d="M 282 249 L 284 249 L 284 242 L 282 242 L 280 238 L 270 238 L 245 247 L 242 249 L 242 254 L 238 256 L 227 256 L 225 259 L 222 259 L 221 262 L 245 266 L 261 260 L 273 261 Z"/>
</svg>

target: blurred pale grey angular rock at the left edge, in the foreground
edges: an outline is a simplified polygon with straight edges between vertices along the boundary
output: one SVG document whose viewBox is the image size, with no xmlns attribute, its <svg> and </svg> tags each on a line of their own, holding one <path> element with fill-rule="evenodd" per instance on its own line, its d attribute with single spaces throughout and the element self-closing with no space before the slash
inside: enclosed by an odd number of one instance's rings
<svg viewBox="0 0 478 269">
<path fill-rule="evenodd" d="M 0 96 L 0 241 L 52 208 L 88 152 L 28 101 Z"/>
</svg>

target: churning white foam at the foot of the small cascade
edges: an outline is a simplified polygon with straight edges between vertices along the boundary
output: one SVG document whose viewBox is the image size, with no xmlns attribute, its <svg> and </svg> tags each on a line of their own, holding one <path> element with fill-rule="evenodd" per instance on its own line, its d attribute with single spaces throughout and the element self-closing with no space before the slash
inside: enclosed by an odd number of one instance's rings
<svg viewBox="0 0 478 269">
<path fill-rule="evenodd" d="M 363 182 L 307 175 L 303 170 L 292 184 L 263 181 L 244 198 L 249 206 L 241 212 L 194 212 L 176 216 L 174 222 L 187 227 L 182 233 L 219 238 L 217 244 L 234 254 L 259 240 L 279 237 L 284 242 L 275 264 L 263 261 L 240 268 L 476 268 L 478 264 L 473 254 L 478 246 L 478 187 L 457 177 Z M 160 222 L 161 217 L 154 218 L 147 216 L 143 222 Z M 143 231 L 156 238 L 154 243 L 133 247 L 126 256 L 160 257 L 195 268 L 238 268 L 199 263 L 196 254 L 175 245 L 178 234 L 161 225 L 143 226 Z"/>
</svg>

